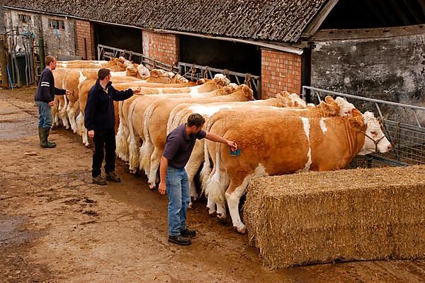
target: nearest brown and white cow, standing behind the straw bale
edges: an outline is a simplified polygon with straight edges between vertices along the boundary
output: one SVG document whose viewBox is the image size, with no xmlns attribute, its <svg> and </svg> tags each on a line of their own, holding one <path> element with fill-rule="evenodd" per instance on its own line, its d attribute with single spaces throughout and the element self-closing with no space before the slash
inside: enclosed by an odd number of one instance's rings
<svg viewBox="0 0 425 283">
<path fill-rule="evenodd" d="M 273 119 L 251 118 L 225 129 L 224 137 L 235 140 L 241 154 L 229 155 L 218 145 L 217 165 L 228 179 L 215 174 L 208 190 L 212 201 L 222 201 L 222 189 L 232 216 L 233 226 L 245 232 L 238 205 L 239 199 L 253 177 L 293 174 L 295 172 L 339 170 L 356 155 L 388 152 L 392 148 L 373 113 L 361 114 L 353 109 L 352 116 L 308 118 L 276 111 Z M 220 152 L 222 152 L 220 154 Z M 220 170 L 219 170 L 220 171 Z M 217 171 L 217 172 L 219 172 Z"/>
</svg>

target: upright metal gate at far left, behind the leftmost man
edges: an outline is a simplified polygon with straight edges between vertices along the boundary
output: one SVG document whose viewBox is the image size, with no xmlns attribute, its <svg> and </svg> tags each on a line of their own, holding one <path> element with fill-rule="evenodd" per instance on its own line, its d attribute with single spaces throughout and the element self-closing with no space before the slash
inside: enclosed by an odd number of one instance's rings
<svg viewBox="0 0 425 283">
<path fill-rule="evenodd" d="M 10 87 L 35 84 L 34 38 L 28 31 L 18 28 L 6 29 L 2 34 L 6 49 L 6 70 Z"/>
</svg>

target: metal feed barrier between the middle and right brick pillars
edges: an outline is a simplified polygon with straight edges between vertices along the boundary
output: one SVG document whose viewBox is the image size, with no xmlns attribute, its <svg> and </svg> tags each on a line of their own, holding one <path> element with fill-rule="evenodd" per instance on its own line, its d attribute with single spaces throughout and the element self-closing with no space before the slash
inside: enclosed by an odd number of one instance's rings
<svg viewBox="0 0 425 283">
<path fill-rule="evenodd" d="M 179 73 L 184 75 L 186 79 L 196 80 L 202 78 L 211 79 L 215 74 L 224 74 L 231 82 L 235 84 L 246 84 L 254 91 L 254 97 L 261 99 L 261 77 L 254 74 L 244 74 L 240 72 L 232 72 L 208 66 L 200 66 L 185 62 L 179 62 Z"/>
</svg>

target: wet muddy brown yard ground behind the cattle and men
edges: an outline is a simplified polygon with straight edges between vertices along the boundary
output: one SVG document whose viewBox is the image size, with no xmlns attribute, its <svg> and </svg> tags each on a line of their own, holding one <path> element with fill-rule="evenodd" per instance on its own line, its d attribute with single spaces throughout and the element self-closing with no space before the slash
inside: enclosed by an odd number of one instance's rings
<svg viewBox="0 0 425 283">
<path fill-rule="evenodd" d="M 424 282 L 425 260 L 268 270 L 246 235 L 188 212 L 198 231 L 169 244 L 165 196 L 117 160 L 119 184 L 91 184 L 91 149 L 72 132 L 38 146 L 35 89 L 0 89 L 0 282 Z"/>
</svg>

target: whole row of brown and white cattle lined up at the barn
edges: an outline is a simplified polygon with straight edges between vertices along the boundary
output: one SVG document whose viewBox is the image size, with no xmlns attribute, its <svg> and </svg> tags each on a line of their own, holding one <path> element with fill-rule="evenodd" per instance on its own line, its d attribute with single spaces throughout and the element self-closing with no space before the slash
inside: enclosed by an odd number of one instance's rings
<svg viewBox="0 0 425 283">
<path fill-rule="evenodd" d="M 204 116 L 205 131 L 237 143 L 241 152 L 235 157 L 227 145 L 197 140 L 186 171 L 192 198 L 198 197 L 199 175 L 210 215 L 225 218 L 227 202 L 239 233 L 245 232 L 239 199 L 251 178 L 339 170 L 356 155 L 392 148 L 373 113 L 361 113 L 341 97 L 327 96 L 319 105 L 306 105 L 297 94 L 283 91 L 276 98 L 256 101 L 249 87 L 232 84 L 221 74 L 188 82 L 179 74 L 149 72 L 124 58 L 58 62 L 55 85 L 72 94 L 56 96 L 55 125 L 61 120 L 64 127 L 82 135 L 86 146 L 84 109 L 101 67 L 111 70 L 115 89 L 140 90 L 140 95 L 115 104 L 116 153 L 131 172 L 145 172 L 151 189 L 158 181 L 166 135 L 191 113 Z"/>
</svg>

